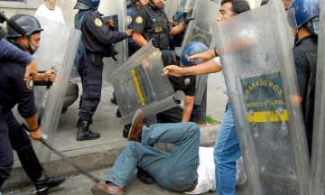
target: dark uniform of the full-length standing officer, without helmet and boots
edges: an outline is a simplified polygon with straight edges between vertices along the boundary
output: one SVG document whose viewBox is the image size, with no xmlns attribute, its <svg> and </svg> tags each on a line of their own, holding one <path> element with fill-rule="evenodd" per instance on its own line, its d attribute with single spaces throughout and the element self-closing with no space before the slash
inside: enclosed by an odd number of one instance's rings
<svg viewBox="0 0 325 195">
<path fill-rule="evenodd" d="M 94 115 L 101 96 L 103 57 L 107 56 L 112 43 L 121 42 L 127 38 L 125 32 L 114 32 L 108 29 L 101 16 L 92 9 L 80 11 L 85 14 L 81 25 L 81 40 L 86 49 L 86 61 L 79 66 L 82 82 L 79 118 L 90 121 Z M 78 14 L 77 14 L 78 17 Z"/>
</svg>

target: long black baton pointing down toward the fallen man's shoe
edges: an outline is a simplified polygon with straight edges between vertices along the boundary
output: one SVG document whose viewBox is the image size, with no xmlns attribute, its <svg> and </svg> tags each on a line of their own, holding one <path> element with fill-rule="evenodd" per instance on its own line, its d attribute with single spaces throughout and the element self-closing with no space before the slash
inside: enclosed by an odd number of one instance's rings
<svg viewBox="0 0 325 195">
<path fill-rule="evenodd" d="M 29 127 L 25 124 L 22 124 L 23 129 L 26 130 L 29 133 Z M 58 151 L 56 148 L 54 148 L 53 146 L 51 146 L 51 144 L 49 144 L 42 136 L 41 140 L 42 144 L 44 144 L 46 147 L 48 147 L 51 151 L 53 151 L 54 153 L 58 154 L 64 161 L 70 163 L 74 168 L 76 168 L 79 172 L 85 174 L 90 180 L 98 183 L 100 182 L 100 180 L 95 177 L 94 175 L 92 175 L 90 172 L 88 172 L 86 169 L 82 168 L 79 166 L 79 164 L 75 163 L 74 161 L 72 161 L 68 156 L 66 156 L 63 153 L 60 153 L 60 151 Z"/>
</svg>

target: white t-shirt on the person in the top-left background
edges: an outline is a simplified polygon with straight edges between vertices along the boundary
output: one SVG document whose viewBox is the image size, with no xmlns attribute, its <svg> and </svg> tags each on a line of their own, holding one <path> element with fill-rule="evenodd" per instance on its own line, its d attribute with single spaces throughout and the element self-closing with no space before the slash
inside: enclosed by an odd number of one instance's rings
<svg viewBox="0 0 325 195">
<path fill-rule="evenodd" d="M 55 6 L 54 10 L 51 10 L 42 4 L 37 8 L 35 15 L 57 23 L 65 24 L 62 11 L 58 6 Z"/>
</svg>

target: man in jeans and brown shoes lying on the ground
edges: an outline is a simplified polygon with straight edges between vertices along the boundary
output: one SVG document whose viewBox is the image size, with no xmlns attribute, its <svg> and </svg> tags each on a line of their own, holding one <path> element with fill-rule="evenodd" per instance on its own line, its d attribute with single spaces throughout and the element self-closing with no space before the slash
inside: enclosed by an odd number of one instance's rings
<svg viewBox="0 0 325 195">
<path fill-rule="evenodd" d="M 164 189 L 189 194 L 216 190 L 213 148 L 200 147 L 200 127 L 194 123 L 154 124 L 145 126 L 143 113 L 138 109 L 128 135 L 130 141 L 108 173 L 106 184 L 96 184 L 91 192 L 125 194 L 136 166 L 148 172 Z M 173 144 L 171 153 L 150 144 Z M 239 166 L 237 183 L 246 181 L 243 162 Z"/>
</svg>

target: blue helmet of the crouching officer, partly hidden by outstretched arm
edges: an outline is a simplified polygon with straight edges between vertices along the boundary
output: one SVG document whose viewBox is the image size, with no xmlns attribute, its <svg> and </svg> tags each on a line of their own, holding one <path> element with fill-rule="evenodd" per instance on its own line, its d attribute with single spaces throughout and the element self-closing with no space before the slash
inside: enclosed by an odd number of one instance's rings
<svg viewBox="0 0 325 195">
<path fill-rule="evenodd" d="M 200 64 L 201 60 L 190 61 L 188 57 L 207 50 L 208 47 L 202 42 L 190 42 L 183 48 L 175 48 L 176 55 L 181 58 L 181 64 L 185 67 Z"/>
</svg>

